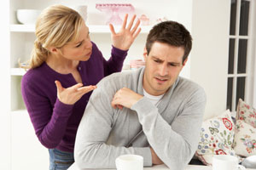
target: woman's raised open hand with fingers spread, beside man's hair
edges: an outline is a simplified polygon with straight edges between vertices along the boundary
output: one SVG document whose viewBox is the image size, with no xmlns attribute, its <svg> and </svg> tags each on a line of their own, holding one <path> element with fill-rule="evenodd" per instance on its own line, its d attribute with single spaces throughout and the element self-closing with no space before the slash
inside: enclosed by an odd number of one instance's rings
<svg viewBox="0 0 256 170">
<path fill-rule="evenodd" d="M 109 25 L 110 31 L 112 33 L 111 38 L 112 38 L 113 47 L 119 48 L 122 50 L 129 49 L 131 47 L 132 42 L 135 40 L 135 38 L 141 31 L 141 28 L 137 29 L 137 27 L 140 24 L 140 20 L 137 20 L 135 26 L 133 26 L 133 22 L 136 19 L 136 15 L 133 15 L 129 25 L 126 27 L 127 18 L 128 18 L 128 14 L 125 14 L 125 20 L 123 21 L 123 25 L 120 31 L 117 33 L 114 31 L 113 25 L 112 24 Z M 132 26 L 133 28 L 131 29 Z"/>
</svg>

